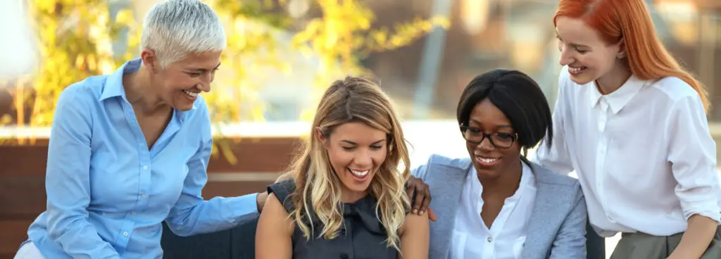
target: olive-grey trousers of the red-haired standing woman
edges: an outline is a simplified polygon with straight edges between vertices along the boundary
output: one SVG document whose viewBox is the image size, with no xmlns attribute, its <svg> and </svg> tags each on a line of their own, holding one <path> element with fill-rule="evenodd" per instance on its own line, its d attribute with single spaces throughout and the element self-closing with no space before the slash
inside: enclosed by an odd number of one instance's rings
<svg viewBox="0 0 721 259">
<path fill-rule="evenodd" d="M 623 233 L 621 240 L 616 245 L 611 259 L 665 259 L 671 255 L 674 249 L 681 242 L 684 233 L 674 234 L 668 237 L 652 236 L 644 233 Z M 701 259 L 721 258 L 721 227 L 716 231 L 714 240 L 702 255 Z"/>
</svg>

